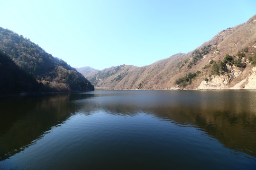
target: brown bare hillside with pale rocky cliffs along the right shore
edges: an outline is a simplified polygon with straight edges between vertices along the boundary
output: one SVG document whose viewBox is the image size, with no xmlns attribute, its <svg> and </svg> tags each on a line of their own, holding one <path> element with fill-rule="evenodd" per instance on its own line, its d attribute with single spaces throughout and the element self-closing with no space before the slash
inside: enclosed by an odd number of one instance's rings
<svg viewBox="0 0 256 170">
<path fill-rule="evenodd" d="M 187 54 L 86 76 L 99 89 L 256 89 L 256 15 Z M 88 75 L 88 73 L 87 73 Z"/>
</svg>

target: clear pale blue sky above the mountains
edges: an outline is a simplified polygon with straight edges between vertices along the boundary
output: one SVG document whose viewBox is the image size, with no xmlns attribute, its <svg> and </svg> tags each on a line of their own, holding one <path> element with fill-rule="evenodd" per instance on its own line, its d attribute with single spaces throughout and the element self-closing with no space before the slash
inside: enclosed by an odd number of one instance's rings
<svg viewBox="0 0 256 170">
<path fill-rule="evenodd" d="M 0 0 L 0 26 L 72 67 L 145 66 L 256 14 L 256 0 Z"/>
</svg>

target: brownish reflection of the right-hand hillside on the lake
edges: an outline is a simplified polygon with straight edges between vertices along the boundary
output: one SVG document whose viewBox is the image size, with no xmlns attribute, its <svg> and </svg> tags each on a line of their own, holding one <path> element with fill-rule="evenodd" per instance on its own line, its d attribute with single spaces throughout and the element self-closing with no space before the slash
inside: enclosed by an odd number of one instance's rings
<svg viewBox="0 0 256 170">
<path fill-rule="evenodd" d="M 146 112 L 180 125 L 192 125 L 216 138 L 225 147 L 256 157 L 256 91 L 124 91 L 123 97 L 107 97 L 108 102 L 90 102 L 90 107 L 106 112 L 132 115 Z M 148 91 L 142 91 L 148 93 Z M 101 101 L 99 99 L 97 101 Z M 114 101 L 114 102 L 113 102 Z M 87 104 L 84 108 L 89 107 Z"/>
</svg>

